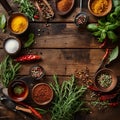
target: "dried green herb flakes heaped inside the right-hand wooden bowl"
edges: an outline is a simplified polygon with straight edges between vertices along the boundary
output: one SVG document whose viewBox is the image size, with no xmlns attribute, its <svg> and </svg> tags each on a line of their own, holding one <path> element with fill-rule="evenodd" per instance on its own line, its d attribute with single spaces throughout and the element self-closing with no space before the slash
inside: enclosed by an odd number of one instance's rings
<svg viewBox="0 0 120 120">
<path fill-rule="evenodd" d="M 108 88 L 112 83 L 112 76 L 109 74 L 100 74 L 97 77 L 97 81 L 102 88 Z"/>
</svg>

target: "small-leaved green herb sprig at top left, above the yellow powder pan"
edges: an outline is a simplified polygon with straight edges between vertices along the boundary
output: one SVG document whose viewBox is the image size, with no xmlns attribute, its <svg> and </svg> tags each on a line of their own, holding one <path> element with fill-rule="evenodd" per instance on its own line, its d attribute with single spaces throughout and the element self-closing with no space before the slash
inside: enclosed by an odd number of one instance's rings
<svg viewBox="0 0 120 120">
<path fill-rule="evenodd" d="M 20 6 L 20 11 L 25 13 L 31 20 L 34 21 L 35 8 L 29 0 L 14 0 Z"/>
</svg>

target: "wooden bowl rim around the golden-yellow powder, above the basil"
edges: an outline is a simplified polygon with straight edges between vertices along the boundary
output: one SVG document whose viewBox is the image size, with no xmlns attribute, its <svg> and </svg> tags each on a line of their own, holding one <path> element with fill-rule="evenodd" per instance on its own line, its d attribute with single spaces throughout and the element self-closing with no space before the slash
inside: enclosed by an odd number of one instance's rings
<svg viewBox="0 0 120 120">
<path fill-rule="evenodd" d="M 105 10 L 105 11 L 103 11 L 101 13 L 95 13 L 95 12 L 93 12 L 93 10 L 91 8 L 91 5 L 93 4 L 94 1 L 95 0 L 88 0 L 88 9 L 91 12 L 91 14 L 93 14 L 94 16 L 103 17 L 103 16 L 107 15 L 111 11 L 111 9 L 112 9 L 112 0 L 108 0 L 107 10 Z"/>
</svg>

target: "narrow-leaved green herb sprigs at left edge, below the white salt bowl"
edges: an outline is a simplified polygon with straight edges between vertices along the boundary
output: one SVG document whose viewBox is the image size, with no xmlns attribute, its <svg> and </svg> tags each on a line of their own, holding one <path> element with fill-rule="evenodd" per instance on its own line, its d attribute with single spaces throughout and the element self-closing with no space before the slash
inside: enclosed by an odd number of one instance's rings
<svg viewBox="0 0 120 120">
<path fill-rule="evenodd" d="M 13 64 L 10 56 L 7 56 L 0 64 L 0 79 L 3 86 L 7 87 L 9 82 L 14 80 L 16 73 L 20 69 L 20 63 Z"/>
</svg>

